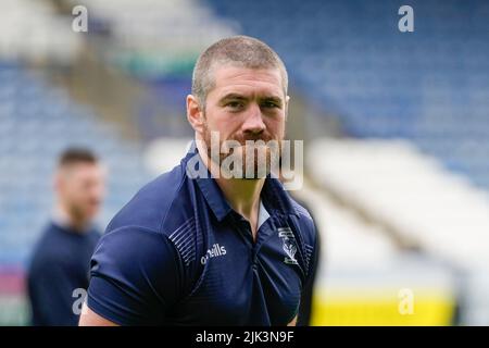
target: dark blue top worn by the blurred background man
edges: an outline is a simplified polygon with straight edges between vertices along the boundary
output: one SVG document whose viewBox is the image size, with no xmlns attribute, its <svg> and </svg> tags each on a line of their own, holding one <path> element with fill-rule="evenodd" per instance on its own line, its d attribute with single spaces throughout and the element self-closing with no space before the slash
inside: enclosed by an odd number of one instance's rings
<svg viewBox="0 0 489 348">
<path fill-rule="evenodd" d="M 33 251 L 28 297 L 33 325 L 78 325 L 73 290 L 87 289 L 90 257 L 100 233 L 85 233 L 50 223 Z"/>
</svg>

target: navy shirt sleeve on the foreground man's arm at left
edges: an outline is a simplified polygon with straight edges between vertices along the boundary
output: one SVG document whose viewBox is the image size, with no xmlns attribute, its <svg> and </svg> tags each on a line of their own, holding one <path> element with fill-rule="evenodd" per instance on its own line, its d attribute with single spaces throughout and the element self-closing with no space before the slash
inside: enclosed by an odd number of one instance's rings
<svg viewBox="0 0 489 348">
<path fill-rule="evenodd" d="M 90 262 L 87 306 L 120 325 L 161 325 L 184 293 L 183 264 L 161 233 L 126 226 L 105 234 Z"/>
</svg>

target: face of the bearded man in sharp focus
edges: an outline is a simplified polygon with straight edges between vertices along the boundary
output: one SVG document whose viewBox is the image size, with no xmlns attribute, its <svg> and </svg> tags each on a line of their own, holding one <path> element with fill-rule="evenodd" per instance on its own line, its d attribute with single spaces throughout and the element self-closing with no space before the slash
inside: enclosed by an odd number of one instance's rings
<svg viewBox="0 0 489 348">
<path fill-rule="evenodd" d="M 287 97 L 278 69 L 253 70 L 226 65 L 214 70 L 214 88 L 208 94 L 202 138 L 211 151 L 211 132 L 218 132 L 221 145 L 237 140 L 235 149 L 241 156 L 243 173 L 247 165 L 258 171 L 259 152 L 266 153 L 269 163 L 271 149 L 254 149 L 254 163 L 246 163 L 247 140 L 276 140 L 285 136 Z M 210 154 L 210 153 L 208 153 Z M 230 156 L 221 153 L 220 160 Z"/>
</svg>

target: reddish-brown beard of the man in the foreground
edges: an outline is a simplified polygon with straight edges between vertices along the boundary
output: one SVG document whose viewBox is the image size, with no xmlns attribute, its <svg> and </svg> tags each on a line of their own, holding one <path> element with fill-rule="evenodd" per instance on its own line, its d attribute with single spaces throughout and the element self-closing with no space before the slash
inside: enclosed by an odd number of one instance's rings
<svg viewBox="0 0 489 348">
<path fill-rule="evenodd" d="M 231 163 L 229 166 L 231 171 L 236 170 L 234 165 L 241 166 L 240 173 L 242 173 L 242 176 L 239 178 L 258 179 L 265 177 L 271 173 L 273 167 L 278 165 L 281 140 L 283 139 L 280 138 L 273 138 L 267 134 L 251 137 L 247 137 L 246 135 L 234 135 L 229 139 L 225 140 L 222 140 L 220 137 L 218 149 L 212 149 L 212 146 L 214 145 L 214 147 L 216 147 L 217 144 L 215 140 L 214 144 L 212 142 L 212 135 L 208 124 L 204 123 L 203 126 L 203 141 L 206 147 L 208 158 L 217 164 L 221 171 L 220 175 L 231 175 L 227 173 L 227 166 L 222 165 L 225 164 L 226 159 L 228 159 L 228 162 Z M 240 146 L 233 146 L 233 141 L 239 142 Z M 247 145 L 247 141 L 252 141 L 252 145 Z M 275 149 L 274 146 L 278 147 L 278 149 Z M 233 159 L 238 159 L 240 161 L 233 161 Z"/>
</svg>

